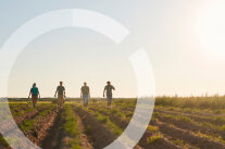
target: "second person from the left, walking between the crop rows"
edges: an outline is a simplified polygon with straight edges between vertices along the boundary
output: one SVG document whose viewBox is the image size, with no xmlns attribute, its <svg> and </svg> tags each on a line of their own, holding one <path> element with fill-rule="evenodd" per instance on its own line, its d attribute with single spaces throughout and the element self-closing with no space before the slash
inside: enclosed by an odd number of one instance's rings
<svg viewBox="0 0 225 149">
<path fill-rule="evenodd" d="M 63 108 L 64 99 L 65 99 L 65 87 L 63 86 L 63 82 L 60 82 L 60 86 L 57 87 L 57 91 L 54 94 L 54 97 L 57 98 L 58 95 L 58 109 Z"/>
</svg>

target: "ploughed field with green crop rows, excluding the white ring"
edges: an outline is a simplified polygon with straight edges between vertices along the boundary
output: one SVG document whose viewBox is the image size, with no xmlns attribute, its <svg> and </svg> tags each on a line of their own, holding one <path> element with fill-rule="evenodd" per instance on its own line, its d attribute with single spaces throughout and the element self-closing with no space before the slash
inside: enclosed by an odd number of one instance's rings
<svg viewBox="0 0 225 149">
<path fill-rule="evenodd" d="M 10 103 L 24 135 L 43 149 L 101 149 L 115 140 L 128 125 L 136 99 L 115 99 L 112 109 L 104 100 Z M 0 137 L 0 148 L 10 149 Z M 157 98 L 151 122 L 136 149 L 225 149 L 225 99 Z"/>
</svg>

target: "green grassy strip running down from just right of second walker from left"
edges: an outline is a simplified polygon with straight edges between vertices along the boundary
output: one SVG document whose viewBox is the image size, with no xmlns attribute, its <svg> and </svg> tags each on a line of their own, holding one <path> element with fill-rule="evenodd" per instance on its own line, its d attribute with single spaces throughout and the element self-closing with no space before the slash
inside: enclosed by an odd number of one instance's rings
<svg viewBox="0 0 225 149">
<path fill-rule="evenodd" d="M 78 119 L 74 116 L 73 110 L 68 104 L 65 105 L 62 117 L 64 117 L 65 121 L 62 127 L 65 129 L 66 135 L 68 135 L 67 145 L 71 149 L 82 149 L 82 132 L 77 125 Z"/>
</svg>

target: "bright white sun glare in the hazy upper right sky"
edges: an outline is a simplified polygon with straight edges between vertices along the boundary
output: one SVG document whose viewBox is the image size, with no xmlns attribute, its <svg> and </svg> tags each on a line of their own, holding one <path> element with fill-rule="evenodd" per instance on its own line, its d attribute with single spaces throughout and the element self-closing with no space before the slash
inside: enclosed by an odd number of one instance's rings
<svg viewBox="0 0 225 149">
<path fill-rule="evenodd" d="M 214 0 L 199 18 L 199 38 L 207 52 L 216 58 L 225 58 L 225 1 Z"/>
</svg>

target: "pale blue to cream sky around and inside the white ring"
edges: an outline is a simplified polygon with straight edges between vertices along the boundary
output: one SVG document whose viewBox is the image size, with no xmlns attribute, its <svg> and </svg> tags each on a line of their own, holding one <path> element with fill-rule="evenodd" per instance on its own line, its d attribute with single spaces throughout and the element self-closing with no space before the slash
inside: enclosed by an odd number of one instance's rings
<svg viewBox="0 0 225 149">
<path fill-rule="evenodd" d="M 37 83 L 41 97 L 53 97 L 60 80 L 67 97 L 78 97 L 84 82 L 101 97 L 107 80 L 115 97 L 136 97 L 128 57 L 145 47 L 158 96 L 225 92 L 223 0 L 8 0 L 0 4 L 0 50 L 7 39 L 37 15 L 60 9 L 85 9 L 114 18 L 130 30 L 120 45 L 85 28 L 67 27 L 33 40 L 17 57 L 9 97 L 26 97 Z"/>
</svg>

